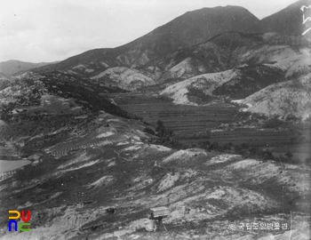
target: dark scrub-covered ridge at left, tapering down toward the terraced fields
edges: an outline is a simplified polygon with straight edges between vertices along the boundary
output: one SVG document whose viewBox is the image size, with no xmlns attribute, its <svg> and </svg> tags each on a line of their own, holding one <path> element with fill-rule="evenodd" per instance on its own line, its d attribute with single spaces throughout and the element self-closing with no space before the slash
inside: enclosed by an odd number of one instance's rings
<svg viewBox="0 0 311 240">
<path fill-rule="evenodd" d="M 0 106 L 0 115 L 4 121 L 12 119 L 14 108 L 37 106 L 44 93 L 59 95 L 65 99 L 76 99 L 76 103 L 91 109 L 93 112 L 104 110 L 116 116 L 140 119 L 113 104 L 101 96 L 101 92 L 124 92 L 121 89 L 103 86 L 89 79 L 71 76 L 59 71 L 41 71 L 39 74 L 30 74 L 20 80 L 12 81 L 13 92 L 7 103 Z"/>
</svg>

